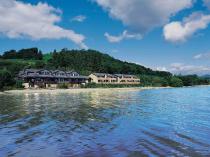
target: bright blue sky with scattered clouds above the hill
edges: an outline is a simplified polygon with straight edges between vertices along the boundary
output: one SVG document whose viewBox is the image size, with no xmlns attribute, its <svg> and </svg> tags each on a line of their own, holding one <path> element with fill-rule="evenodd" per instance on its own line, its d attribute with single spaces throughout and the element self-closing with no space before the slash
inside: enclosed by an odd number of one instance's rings
<svg viewBox="0 0 210 157">
<path fill-rule="evenodd" d="M 28 47 L 210 74 L 210 0 L 0 0 L 1 53 Z"/>
</svg>

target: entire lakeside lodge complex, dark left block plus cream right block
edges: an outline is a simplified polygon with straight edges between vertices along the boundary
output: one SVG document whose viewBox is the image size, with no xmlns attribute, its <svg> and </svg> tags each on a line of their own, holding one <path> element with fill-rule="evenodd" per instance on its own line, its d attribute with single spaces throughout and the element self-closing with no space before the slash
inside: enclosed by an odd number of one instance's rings
<svg viewBox="0 0 210 157">
<path fill-rule="evenodd" d="M 135 75 L 93 73 L 82 76 L 75 71 L 25 69 L 19 72 L 18 79 L 22 80 L 25 88 L 57 88 L 59 84 L 67 84 L 76 88 L 86 83 L 96 84 L 140 84 Z"/>
</svg>

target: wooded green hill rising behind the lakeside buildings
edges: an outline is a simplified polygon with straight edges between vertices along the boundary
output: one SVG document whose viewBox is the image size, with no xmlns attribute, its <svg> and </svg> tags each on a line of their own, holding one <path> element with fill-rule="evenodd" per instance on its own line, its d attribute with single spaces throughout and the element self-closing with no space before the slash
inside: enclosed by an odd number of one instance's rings
<svg viewBox="0 0 210 157">
<path fill-rule="evenodd" d="M 42 54 L 37 48 L 6 51 L 1 56 L 0 67 L 12 70 L 12 66 L 20 68 L 73 69 L 86 75 L 92 72 L 101 72 L 171 76 L 169 72 L 153 71 L 138 64 L 120 61 L 95 50 L 62 49 L 60 52 L 54 51 L 46 54 Z"/>
</svg>

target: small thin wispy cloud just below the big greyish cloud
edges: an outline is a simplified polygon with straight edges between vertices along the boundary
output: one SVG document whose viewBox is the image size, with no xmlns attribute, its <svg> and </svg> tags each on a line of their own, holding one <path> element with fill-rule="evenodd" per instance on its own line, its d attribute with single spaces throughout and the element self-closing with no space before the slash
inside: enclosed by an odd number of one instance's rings
<svg viewBox="0 0 210 157">
<path fill-rule="evenodd" d="M 118 42 L 121 42 L 124 39 L 137 39 L 137 40 L 140 40 L 142 38 L 141 34 L 128 33 L 128 31 L 126 31 L 126 30 L 123 31 L 123 33 L 118 35 L 118 36 L 110 35 L 107 32 L 104 34 L 104 36 L 111 43 L 118 43 Z"/>
</svg>

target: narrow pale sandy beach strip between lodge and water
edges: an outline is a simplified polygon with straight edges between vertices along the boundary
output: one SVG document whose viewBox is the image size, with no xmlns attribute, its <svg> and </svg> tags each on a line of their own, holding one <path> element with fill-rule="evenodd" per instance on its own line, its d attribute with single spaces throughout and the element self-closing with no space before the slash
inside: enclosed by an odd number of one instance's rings
<svg viewBox="0 0 210 157">
<path fill-rule="evenodd" d="M 2 94 L 15 93 L 81 93 L 81 92 L 97 92 L 97 91 L 138 91 L 147 89 L 161 89 L 171 87 L 130 87 L 130 88 L 72 88 L 72 89 L 23 89 L 23 90 L 8 90 L 0 92 Z"/>
</svg>

